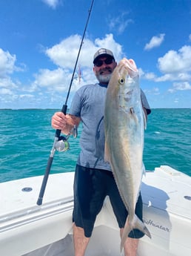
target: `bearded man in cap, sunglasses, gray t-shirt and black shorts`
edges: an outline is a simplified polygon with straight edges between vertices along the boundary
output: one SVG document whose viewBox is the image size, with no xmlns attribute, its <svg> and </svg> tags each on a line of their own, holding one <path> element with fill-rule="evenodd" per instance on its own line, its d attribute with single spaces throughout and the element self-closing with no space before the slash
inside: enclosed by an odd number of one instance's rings
<svg viewBox="0 0 191 256">
<path fill-rule="evenodd" d="M 68 134 L 73 125 L 82 122 L 81 152 L 76 165 L 74 181 L 73 237 L 75 256 L 84 256 L 90 240 L 96 216 L 101 211 L 104 198 L 108 195 L 113 206 L 122 234 L 127 210 L 118 193 L 109 163 L 104 162 L 104 100 L 107 85 L 117 63 L 110 50 L 101 48 L 93 57 L 93 72 L 98 83 L 84 85 L 75 94 L 70 113 L 61 112 L 52 118 L 53 128 Z M 150 106 L 144 93 L 141 99 L 146 114 L 150 114 Z M 142 219 L 141 194 L 135 209 Z M 138 230 L 130 232 L 124 244 L 125 256 L 135 256 L 138 238 L 144 234 Z"/>
</svg>

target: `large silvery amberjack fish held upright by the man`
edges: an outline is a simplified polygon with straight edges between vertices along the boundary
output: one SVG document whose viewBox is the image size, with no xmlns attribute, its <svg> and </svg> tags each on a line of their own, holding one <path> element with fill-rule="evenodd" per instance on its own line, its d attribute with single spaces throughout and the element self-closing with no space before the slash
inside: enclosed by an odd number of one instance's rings
<svg viewBox="0 0 191 256">
<path fill-rule="evenodd" d="M 141 189 L 146 117 L 141 103 L 139 75 L 133 59 L 122 59 L 107 88 L 105 110 L 105 160 L 111 165 L 118 191 L 128 211 L 121 249 L 128 234 L 139 229 L 151 237 L 135 215 Z"/>
</svg>

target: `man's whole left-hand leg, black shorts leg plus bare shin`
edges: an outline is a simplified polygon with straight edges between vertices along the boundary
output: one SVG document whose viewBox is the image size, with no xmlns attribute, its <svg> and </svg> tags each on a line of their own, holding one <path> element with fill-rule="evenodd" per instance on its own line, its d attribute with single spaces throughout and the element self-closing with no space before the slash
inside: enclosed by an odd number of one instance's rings
<svg viewBox="0 0 191 256">
<path fill-rule="evenodd" d="M 73 209 L 75 256 L 84 256 L 96 216 L 103 206 L 106 197 L 105 172 L 76 165 Z"/>
</svg>

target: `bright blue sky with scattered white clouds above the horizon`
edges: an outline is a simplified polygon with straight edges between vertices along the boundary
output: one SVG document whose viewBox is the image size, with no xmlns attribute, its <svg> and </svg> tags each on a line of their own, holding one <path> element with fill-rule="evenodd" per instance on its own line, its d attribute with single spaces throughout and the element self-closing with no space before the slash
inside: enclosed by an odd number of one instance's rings
<svg viewBox="0 0 191 256">
<path fill-rule="evenodd" d="M 0 1 L 0 108 L 62 107 L 90 4 Z M 190 21 L 190 0 L 95 0 L 67 105 L 107 47 L 135 60 L 151 108 L 191 108 Z"/>
</svg>

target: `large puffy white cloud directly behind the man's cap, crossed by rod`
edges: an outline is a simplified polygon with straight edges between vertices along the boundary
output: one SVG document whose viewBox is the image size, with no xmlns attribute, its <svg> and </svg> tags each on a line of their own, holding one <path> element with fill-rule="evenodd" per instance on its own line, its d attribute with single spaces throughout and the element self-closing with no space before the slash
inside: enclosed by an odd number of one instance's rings
<svg viewBox="0 0 191 256">
<path fill-rule="evenodd" d="M 59 44 L 45 50 L 47 56 L 53 63 L 61 68 L 73 69 L 81 45 L 81 36 L 73 35 L 62 40 Z M 83 67 L 93 67 L 93 54 L 101 47 L 113 50 L 115 59 L 121 59 L 122 47 L 113 39 L 113 34 L 107 34 L 103 39 L 84 39 L 78 63 Z"/>
</svg>

